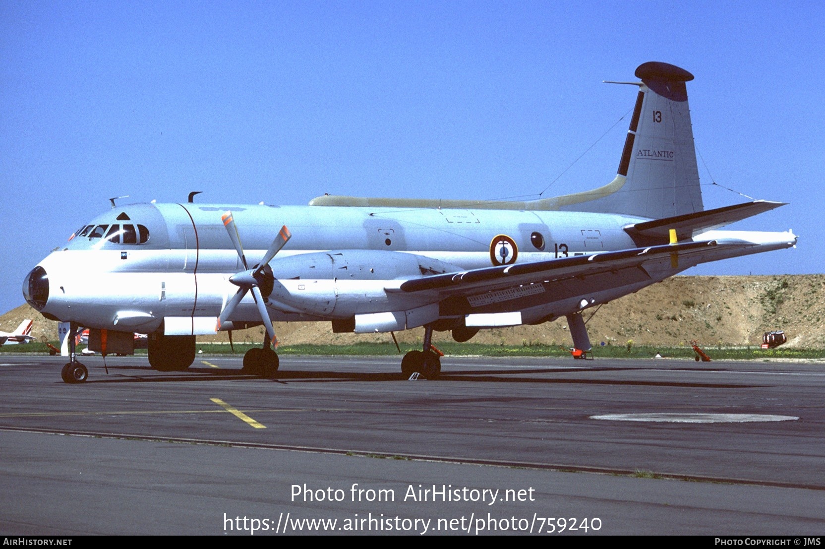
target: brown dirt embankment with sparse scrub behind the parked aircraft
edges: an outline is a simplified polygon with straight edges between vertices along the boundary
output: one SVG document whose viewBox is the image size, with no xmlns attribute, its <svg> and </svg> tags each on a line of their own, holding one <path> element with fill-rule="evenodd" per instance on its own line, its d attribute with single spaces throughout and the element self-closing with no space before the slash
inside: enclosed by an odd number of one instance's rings
<svg viewBox="0 0 825 549">
<path fill-rule="evenodd" d="M 825 348 L 825 275 L 777 275 L 767 277 L 672 277 L 635 294 L 603 305 L 587 321 L 593 345 L 601 342 L 676 346 L 698 339 L 701 343 L 758 345 L 762 334 L 783 329 L 787 345 Z M 593 309 L 585 311 L 585 319 Z M 35 319 L 32 334 L 57 339 L 57 323 L 43 318 L 28 305 L 0 316 L 0 330 L 10 332 L 23 319 Z M 276 323 L 281 344 L 389 343 L 389 334 L 332 334 L 328 322 Z M 263 329 L 233 334 L 235 341 L 262 341 Z M 422 329 L 398 333 L 399 341 L 421 340 Z M 225 334 L 203 338 L 226 341 Z M 436 344 L 450 339 L 437 333 Z M 540 326 L 483 330 L 474 343 L 571 344 L 564 319 Z"/>
</svg>

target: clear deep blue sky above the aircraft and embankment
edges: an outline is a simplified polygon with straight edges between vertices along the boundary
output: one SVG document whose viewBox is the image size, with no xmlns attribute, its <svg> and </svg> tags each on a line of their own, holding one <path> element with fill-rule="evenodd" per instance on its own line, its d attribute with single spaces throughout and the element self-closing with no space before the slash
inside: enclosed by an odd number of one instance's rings
<svg viewBox="0 0 825 549">
<path fill-rule="evenodd" d="M 823 28 L 822 2 L 0 0 L 0 312 L 110 196 L 601 186 L 636 94 L 601 81 L 651 60 L 695 75 L 705 207 L 790 202 L 730 228 L 800 236 L 688 274 L 823 272 Z"/>
</svg>

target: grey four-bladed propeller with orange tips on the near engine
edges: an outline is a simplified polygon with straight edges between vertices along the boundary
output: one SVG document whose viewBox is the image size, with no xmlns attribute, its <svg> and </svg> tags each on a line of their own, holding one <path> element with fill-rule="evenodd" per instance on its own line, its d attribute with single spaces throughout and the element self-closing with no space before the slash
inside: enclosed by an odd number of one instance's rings
<svg viewBox="0 0 825 549">
<path fill-rule="evenodd" d="M 217 328 L 220 329 L 220 325 L 226 322 L 226 319 L 229 319 L 235 307 L 243 300 L 243 296 L 247 295 L 247 291 L 251 291 L 252 299 L 255 301 L 255 305 L 257 305 L 258 313 L 260 313 L 264 328 L 266 328 L 266 334 L 269 334 L 270 341 L 277 346 L 278 340 L 275 337 L 275 329 L 272 328 L 272 321 L 266 313 L 264 294 L 261 289 L 263 288 L 266 292 L 266 297 L 271 293 L 272 286 L 275 283 L 275 277 L 272 275 L 272 267 L 269 266 L 269 262 L 276 256 L 276 253 L 281 251 L 284 244 L 292 238 L 292 234 L 290 230 L 286 228 L 286 225 L 281 227 L 281 231 L 279 231 L 275 239 L 272 240 L 272 244 L 269 249 L 266 250 L 266 254 L 261 260 L 261 263 L 249 268 L 246 255 L 243 253 L 241 237 L 240 234 L 238 234 L 238 225 L 235 225 L 232 211 L 226 211 L 224 215 L 221 215 L 221 220 L 224 221 L 226 232 L 229 233 L 229 239 L 232 240 L 232 244 L 238 252 L 238 257 L 241 258 L 244 270 L 236 272 L 229 277 L 229 282 L 238 286 L 238 291 L 235 292 L 235 295 L 232 296 L 232 299 L 226 304 L 224 310 L 221 311 L 218 317 Z"/>
</svg>

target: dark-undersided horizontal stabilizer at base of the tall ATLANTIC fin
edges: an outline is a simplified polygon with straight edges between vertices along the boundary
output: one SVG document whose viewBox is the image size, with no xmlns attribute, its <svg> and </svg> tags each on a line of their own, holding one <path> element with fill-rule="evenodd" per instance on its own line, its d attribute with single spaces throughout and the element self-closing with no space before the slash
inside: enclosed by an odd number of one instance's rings
<svg viewBox="0 0 825 549">
<path fill-rule="evenodd" d="M 785 202 L 757 200 L 736 204 L 734 206 L 714 208 L 714 210 L 697 211 L 692 214 L 675 215 L 673 217 L 663 217 L 659 220 L 644 221 L 643 223 L 625 227 L 625 231 L 634 238 L 643 237 L 667 242 L 669 231 L 674 229 L 679 240 L 686 240 L 691 239 L 695 234 L 718 229 L 734 221 L 743 220 L 752 215 L 773 210 L 779 206 L 785 206 Z"/>
</svg>

